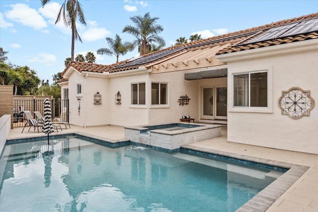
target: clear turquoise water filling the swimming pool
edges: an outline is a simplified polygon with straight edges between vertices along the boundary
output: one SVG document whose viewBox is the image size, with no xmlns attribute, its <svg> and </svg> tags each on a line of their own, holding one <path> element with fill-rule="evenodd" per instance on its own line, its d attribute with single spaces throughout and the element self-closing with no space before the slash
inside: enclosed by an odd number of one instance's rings
<svg viewBox="0 0 318 212">
<path fill-rule="evenodd" d="M 274 181 L 271 172 L 78 137 L 10 144 L 0 159 L 0 211 L 231 212 Z"/>
</svg>

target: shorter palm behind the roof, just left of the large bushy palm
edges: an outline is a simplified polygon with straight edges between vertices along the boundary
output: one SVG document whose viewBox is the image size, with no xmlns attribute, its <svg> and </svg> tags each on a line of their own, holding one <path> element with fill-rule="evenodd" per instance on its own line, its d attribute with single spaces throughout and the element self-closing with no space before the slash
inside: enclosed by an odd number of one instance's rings
<svg viewBox="0 0 318 212">
<path fill-rule="evenodd" d="M 115 55 L 116 56 L 116 63 L 118 63 L 119 55 L 125 55 L 128 51 L 134 50 L 134 46 L 129 42 L 122 42 L 121 38 L 118 34 L 116 34 L 115 39 L 110 37 L 106 37 L 106 41 L 108 43 L 108 48 L 100 48 L 97 50 L 97 54 L 105 54 L 108 56 Z"/>
</svg>

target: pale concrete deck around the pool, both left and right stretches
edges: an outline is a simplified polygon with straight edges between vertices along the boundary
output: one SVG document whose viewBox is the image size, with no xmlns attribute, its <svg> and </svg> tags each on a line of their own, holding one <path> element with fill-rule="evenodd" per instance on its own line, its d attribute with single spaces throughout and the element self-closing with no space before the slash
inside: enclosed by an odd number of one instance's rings
<svg viewBox="0 0 318 212">
<path fill-rule="evenodd" d="M 24 131 L 22 127 L 11 129 L 8 139 L 43 136 L 43 132 Z M 71 125 L 63 133 L 82 132 L 112 140 L 124 139 L 124 127 L 96 126 L 80 127 Z M 53 134 L 59 134 L 54 132 Z M 275 160 L 310 167 L 287 191 L 280 196 L 267 212 L 318 212 L 318 155 L 287 150 L 271 149 L 227 141 L 227 129 L 222 127 L 222 136 L 188 144 L 194 148 L 225 151 L 228 153 Z"/>
</svg>

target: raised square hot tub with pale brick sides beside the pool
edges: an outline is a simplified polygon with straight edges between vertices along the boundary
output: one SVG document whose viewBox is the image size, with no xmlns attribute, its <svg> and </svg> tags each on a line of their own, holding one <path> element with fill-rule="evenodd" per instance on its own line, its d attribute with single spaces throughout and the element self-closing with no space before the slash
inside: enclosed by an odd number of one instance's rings
<svg viewBox="0 0 318 212">
<path fill-rule="evenodd" d="M 221 125 L 200 123 L 162 123 L 125 127 L 125 138 L 137 144 L 167 151 L 179 151 L 180 146 L 221 135 Z"/>
</svg>

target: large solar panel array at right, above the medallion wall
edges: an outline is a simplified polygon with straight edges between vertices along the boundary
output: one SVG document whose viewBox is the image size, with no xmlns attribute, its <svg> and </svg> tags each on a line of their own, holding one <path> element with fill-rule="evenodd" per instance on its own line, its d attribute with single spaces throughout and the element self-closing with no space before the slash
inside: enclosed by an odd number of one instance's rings
<svg viewBox="0 0 318 212">
<path fill-rule="evenodd" d="M 241 45 L 264 42 L 276 38 L 284 38 L 288 36 L 295 36 L 298 34 L 311 33 L 315 31 L 318 31 L 318 18 L 273 27 L 265 33 Z"/>
</svg>

